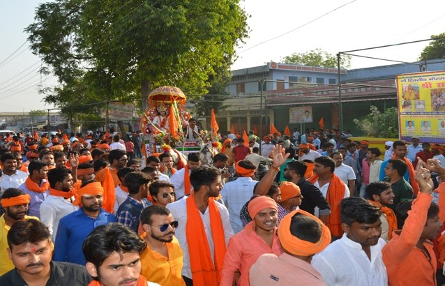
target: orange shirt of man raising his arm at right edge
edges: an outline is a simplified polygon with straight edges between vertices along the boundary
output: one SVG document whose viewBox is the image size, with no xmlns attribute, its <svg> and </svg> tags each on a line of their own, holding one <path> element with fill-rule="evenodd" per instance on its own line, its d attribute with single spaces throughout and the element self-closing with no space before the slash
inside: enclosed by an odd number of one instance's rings
<svg viewBox="0 0 445 286">
<path fill-rule="evenodd" d="M 408 211 L 402 232 L 393 232 L 393 239 L 382 250 L 389 285 L 436 285 L 436 255 L 432 243 L 423 243 L 431 261 L 416 248 L 425 226 L 432 195 L 419 193 Z"/>
</svg>

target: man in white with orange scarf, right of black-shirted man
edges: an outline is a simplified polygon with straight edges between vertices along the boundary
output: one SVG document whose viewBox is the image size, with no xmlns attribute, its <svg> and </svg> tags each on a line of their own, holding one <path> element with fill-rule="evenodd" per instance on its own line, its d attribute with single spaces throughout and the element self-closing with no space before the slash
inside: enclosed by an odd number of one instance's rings
<svg viewBox="0 0 445 286">
<path fill-rule="evenodd" d="M 326 220 L 326 225 L 331 230 L 332 236 L 340 238 L 343 234 L 340 220 L 340 202 L 345 197 L 349 197 L 349 188 L 333 172 L 335 162 L 332 158 L 322 156 L 315 159 L 314 176 L 308 181 L 319 188 L 326 201 L 331 206 L 331 214 Z"/>
</svg>

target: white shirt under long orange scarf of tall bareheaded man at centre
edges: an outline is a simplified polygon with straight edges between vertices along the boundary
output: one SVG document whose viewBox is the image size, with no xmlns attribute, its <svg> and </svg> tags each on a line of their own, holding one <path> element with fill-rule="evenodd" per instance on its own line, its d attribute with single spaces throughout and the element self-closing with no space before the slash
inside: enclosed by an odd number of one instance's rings
<svg viewBox="0 0 445 286">
<path fill-rule="evenodd" d="M 181 169 L 182 170 L 182 169 Z M 177 174 L 177 172 L 176 172 Z M 171 204 L 167 204 L 167 209 L 172 212 L 174 220 L 178 221 L 178 227 L 176 227 L 175 236 L 179 241 L 179 245 L 183 251 L 183 266 L 182 266 L 182 275 L 192 279 L 192 270 L 190 269 L 190 255 L 188 253 L 188 243 L 186 237 L 186 224 L 187 224 L 187 199 L 188 197 L 184 197 L 183 199 L 172 202 Z M 220 211 L 221 220 L 223 222 L 224 234 L 225 234 L 225 244 L 229 243 L 229 239 L 234 234 L 232 230 L 232 226 L 230 226 L 230 218 L 229 212 L 226 207 L 219 202 L 216 202 L 216 206 Z M 213 262 L 213 237 L 211 233 L 211 225 L 210 225 L 210 213 L 209 208 L 206 209 L 204 214 L 199 211 L 199 215 L 201 216 L 202 223 L 204 224 L 204 230 L 206 232 L 206 239 L 209 243 L 210 253 Z M 196 237 L 195 239 L 204 239 L 203 237 Z"/>
</svg>

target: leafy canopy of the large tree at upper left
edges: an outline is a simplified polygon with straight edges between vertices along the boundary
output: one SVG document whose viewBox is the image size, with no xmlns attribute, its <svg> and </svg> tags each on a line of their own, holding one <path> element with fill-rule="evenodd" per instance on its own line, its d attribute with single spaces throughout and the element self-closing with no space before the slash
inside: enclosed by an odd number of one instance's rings
<svg viewBox="0 0 445 286">
<path fill-rule="evenodd" d="M 45 101 L 69 115 L 163 85 L 205 93 L 218 71 L 229 73 L 246 20 L 239 0 L 56 0 L 41 3 L 25 31 L 43 72 L 59 78 Z"/>
</svg>

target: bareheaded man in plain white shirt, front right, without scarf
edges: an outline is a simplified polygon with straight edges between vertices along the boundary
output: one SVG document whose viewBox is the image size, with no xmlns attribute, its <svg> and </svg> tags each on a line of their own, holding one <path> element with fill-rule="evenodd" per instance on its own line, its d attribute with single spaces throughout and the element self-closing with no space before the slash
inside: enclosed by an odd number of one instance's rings
<svg viewBox="0 0 445 286">
<path fill-rule="evenodd" d="M 388 285 L 379 209 L 361 197 L 343 199 L 340 208 L 345 233 L 312 257 L 312 266 L 326 285 Z"/>
</svg>

